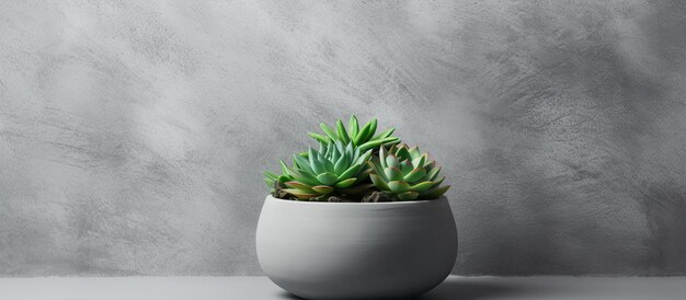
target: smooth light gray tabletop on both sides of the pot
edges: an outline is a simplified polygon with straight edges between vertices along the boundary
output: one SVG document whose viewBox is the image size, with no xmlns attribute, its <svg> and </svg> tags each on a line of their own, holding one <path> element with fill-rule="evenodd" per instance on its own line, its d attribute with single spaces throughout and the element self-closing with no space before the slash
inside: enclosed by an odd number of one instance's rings
<svg viewBox="0 0 686 300">
<path fill-rule="evenodd" d="M 343 284 L 343 282 L 342 282 Z M 297 299 L 265 277 L 2 278 L 0 299 Z M 418 300 L 686 299 L 686 277 L 458 277 Z"/>
</svg>

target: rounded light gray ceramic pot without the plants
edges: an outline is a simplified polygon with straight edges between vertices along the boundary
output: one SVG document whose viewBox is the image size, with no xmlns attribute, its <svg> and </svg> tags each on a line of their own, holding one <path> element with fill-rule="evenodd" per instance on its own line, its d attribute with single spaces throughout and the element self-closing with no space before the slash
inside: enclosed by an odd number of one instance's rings
<svg viewBox="0 0 686 300">
<path fill-rule="evenodd" d="M 270 279 L 301 298 L 413 297 L 450 273 L 457 230 L 445 197 L 309 203 L 267 196 L 256 247 Z"/>
</svg>

